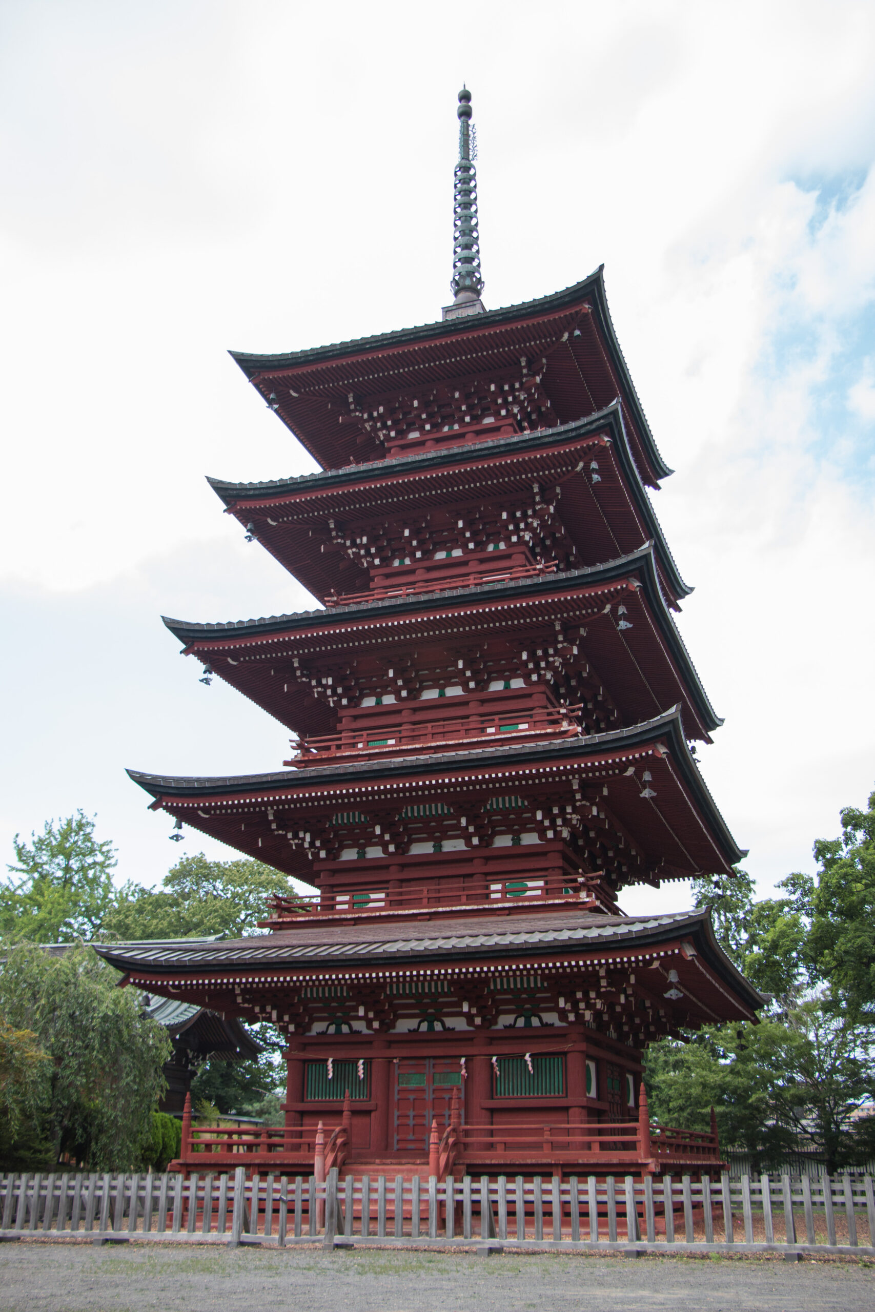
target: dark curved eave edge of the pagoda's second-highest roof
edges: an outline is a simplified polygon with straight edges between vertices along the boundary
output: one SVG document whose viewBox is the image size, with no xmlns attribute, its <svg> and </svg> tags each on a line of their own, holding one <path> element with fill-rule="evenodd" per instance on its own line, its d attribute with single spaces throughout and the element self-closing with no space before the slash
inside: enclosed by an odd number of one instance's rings
<svg viewBox="0 0 875 1312">
<path fill-rule="evenodd" d="M 453 468 L 454 466 L 471 464 L 484 457 L 496 458 L 505 454 L 517 455 L 522 451 L 537 451 L 540 447 L 556 445 L 560 441 L 573 441 L 596 434 L 605 428 L 610 429 L 611 442 L 617 449 L 618 461 L 628 489 L 641 520 L 647 525 L 648 535 L 657 546 L 668 585 L 676 597 L 689 597 L 693 588 L 681 577 L 665 541 L 661 525 L 635 463 L 619 401 L 611 401 L 610 405 L 597 411 L 594 415 L 589 415 L 586 419 L 563 424 L 558 428 L 538 429 L 534 433 L 518 433 L 513 437 L 492 438 L 484 442 L 472 442 L 467 446 L 450 446 L 443 450 L 401 455 L 395 459 L 371 461 L 366 464 L 346 466 L 341 470 L 324 470 L 317 474 L 303 474 L 289 479 L 272 479 L 262 483 L 231 483 L 207 476 L 207 483 L 227 509 L 234 509 L 241 502 L 253 501 L 264 505 L 272 499 L 275 502 L 281 502 L 286 497 L 294 497 L 304 492 L 331 492 L 369 483 L 374 479 L 386 479 L 387 475 L 401 478 L 411 472 L 426 474 L 436 470 Z"/>
</svg>

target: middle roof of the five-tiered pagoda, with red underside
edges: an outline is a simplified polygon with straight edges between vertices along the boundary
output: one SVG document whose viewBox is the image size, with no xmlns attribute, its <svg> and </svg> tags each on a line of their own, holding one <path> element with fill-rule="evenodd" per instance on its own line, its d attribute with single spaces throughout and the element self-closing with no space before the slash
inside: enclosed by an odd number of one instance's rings
<svg viewBox="0 0 875 1312">
<path fill-rule="evenodd" d="M 623 631 L 611 618 L 619 604 L 631 621 Z M 492 632 L 518 630 L 523 646 L 527 628 L 539 623 L 584 627 L 586 656 L 626 723 L 649 719 L 677 701 L 685 705 L 691 737 L 710 741 L 723 723 L 665 602 L 652 543 L 603 565 L 540 577 L 231 623 L 169 618 L 164 623 L 186 652 L 209 661 L 214 673 L 281 723 L 302 733 L 325 733 L 333 712 L 312 697 L 310 684 L 298 681 L 293 661 L 304 653 L 321 659 L 342 653 L 350 642 L 361 656 L 387 642 L 470 634 L 472 625 L 487 621 Z"/>
</svg>

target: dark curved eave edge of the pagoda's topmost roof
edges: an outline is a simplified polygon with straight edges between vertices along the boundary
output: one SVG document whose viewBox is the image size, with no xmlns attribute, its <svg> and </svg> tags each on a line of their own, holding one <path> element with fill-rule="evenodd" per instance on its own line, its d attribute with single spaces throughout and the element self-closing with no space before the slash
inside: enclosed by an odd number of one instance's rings
<svg viewBox="0 0 875 1312">
<path fill-rule="evenodd" d="M 607 310 L 607 297 L 605 294 L 605 266 L 600 265 L 594 273 L 581 282 L 573 283 L 561 291 L 548 297 L 539 297 L 537 300 L 525 300 L 514 306 L 504 306 L 499 310 L 487 310 L 478 315 L 466 315 L 460 319 L 438 320 L 429 324 L 420 324 L 415 328 L 401 328 L 395 332 L 378 333 L 373 337 L 359 337 L 350 341 L 332 342 L 327 346 L 315 346 L 307 350 L 283 352 L 279 354 L 257 354 L 240 350 L 230 350 L 228 354 L 243 370 L 249 382 L 256 380 L 262 374 L 274 374 L 281 370 L 317 366 L 341 359 L 354 358 L 375 350 L 391 350 L 399 346 L 415 346 L 417 342 L 430 342 L 437 338 L 450 338 L 471 336 L 484 329 L 510 323 L 525 323 L 529 319 L 538 319 L 543 315 L 571 310 L 586 297 L 593 297 L 598 315 L 598 327 L 605 336 L 605 341 L 613 354 L 614 365 L 623 384 L 626 403 L 635 417 L 635 425 L 641 436 L 641 442 L 647 450 L 647 458 L 656 479 L 668 478 L 673 471 L 665 463 L 656 446 L 649 424 L 641 408 L 640 399 L 632 384 L 626 359 L 619 348 L 617 332 Z M 299 437 L 299 441 L 303 438 Z M 304 442 L 308 446 L 308 443 Z M 310 449 L 310 446 L 308 446 Z"/>
</svg>

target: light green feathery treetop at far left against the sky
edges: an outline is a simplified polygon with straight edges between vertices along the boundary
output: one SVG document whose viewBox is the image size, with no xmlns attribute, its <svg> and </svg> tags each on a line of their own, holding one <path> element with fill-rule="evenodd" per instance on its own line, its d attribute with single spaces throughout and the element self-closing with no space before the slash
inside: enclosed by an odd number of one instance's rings
<svg viewBox="0 0 875 1312">
<path fill-rule="evenodd" d="M 20 876 L 0 886 L 0 935 L 37 943 L 94 938 L 115 900 L 115 853 L 109 840 L 94 837 L 94 817 L 83 811 L 66 820 L 47 820 L 30 844 L 16 834 Z"/>
</svg>

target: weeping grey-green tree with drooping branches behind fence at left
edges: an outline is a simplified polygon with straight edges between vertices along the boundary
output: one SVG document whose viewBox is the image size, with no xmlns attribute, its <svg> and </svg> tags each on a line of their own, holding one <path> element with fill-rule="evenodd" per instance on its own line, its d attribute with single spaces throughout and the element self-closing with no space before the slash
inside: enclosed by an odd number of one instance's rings
<svg viewBox="0 0 875 1312">
<path fill-rule="evenodd" d="M 55 956 L 33 943 L 7 953 L 0 1017 L 29 1030 L 51 1060 L 43 1126 L 52 1160 L 70 1152 L 94 1170 L 139 1162 L 165 1081 L 171 1042 L 134 989 L 91 947 Z"/>
</svg>

